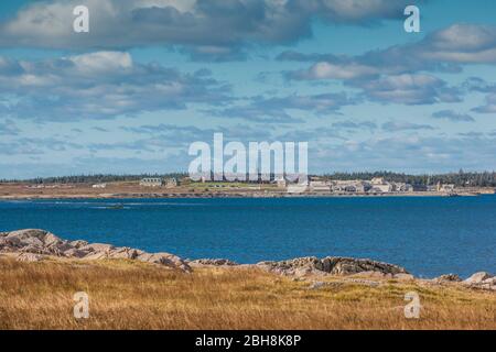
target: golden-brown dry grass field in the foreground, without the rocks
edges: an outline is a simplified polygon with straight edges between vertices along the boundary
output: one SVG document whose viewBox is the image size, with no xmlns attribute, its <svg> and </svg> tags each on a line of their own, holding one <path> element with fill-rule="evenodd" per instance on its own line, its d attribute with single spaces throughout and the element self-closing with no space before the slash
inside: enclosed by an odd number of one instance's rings
<svg viewBox="0 0 496 352">
<path fill-rule="evenodd" d="M 0 258 L 0 329 L 496 329 L 496 295 L 462 287 L 343 278 L 309 289 L 256 270 L 193 274 L 130 262 L 19 263 Z M 73 295 L 90 297 L 89 319 Z M 407 292 L 421 297 L 406 319 Z"/>
</svg>

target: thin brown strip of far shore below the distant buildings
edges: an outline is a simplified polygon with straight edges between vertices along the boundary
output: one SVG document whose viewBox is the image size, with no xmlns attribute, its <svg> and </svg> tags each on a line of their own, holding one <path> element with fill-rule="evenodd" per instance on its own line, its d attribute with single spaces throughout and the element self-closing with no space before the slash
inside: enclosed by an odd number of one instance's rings
<svg viewBox="0 0 496 352">
<path fill-rule="evenodd" d="M 50 184 L 0 183 L 0 200 L 35 199 L 145 199 L 145 198 L 356 198 L 356 197 L 473 197 L 495 194 L 494 188 L 466 187 L 451 191 L 330 191 L 279 187 L 277 184 L 194 183 L 172 187 L 147 187 L 137 182 L 106 184 Z"/>
</svg>

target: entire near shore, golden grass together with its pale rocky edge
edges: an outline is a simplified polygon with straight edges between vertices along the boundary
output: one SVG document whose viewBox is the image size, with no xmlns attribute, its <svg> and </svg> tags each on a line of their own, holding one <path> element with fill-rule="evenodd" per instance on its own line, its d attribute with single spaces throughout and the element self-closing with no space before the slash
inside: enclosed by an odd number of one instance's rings
<svg viewBox="0 0 496 352">
<path fill-rule="evenodd" d="M 496 329 L 496 276 L 351 257 L 238 265 L 20 230 L 0 232 L 0 282 L 1 329 Z"/>
</svg>

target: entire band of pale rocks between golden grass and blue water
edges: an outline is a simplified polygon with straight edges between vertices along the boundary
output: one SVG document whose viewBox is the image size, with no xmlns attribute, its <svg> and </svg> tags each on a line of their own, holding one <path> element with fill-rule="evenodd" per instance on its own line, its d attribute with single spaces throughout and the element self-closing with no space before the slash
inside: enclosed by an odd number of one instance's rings
<svg viewBox="0 0 496 352">
<path fill-rule="evenodd" d="M 55 234 L 36 229 L 0 232 L 0 256 L 14 257 L 23 262 L 44 260 L 131 260 L 155 264 L 190 273 L 197 267 L 257 267 L 274 274 L 304 279 L 309 276 L 360 276 L 386 279 L 418 279 L 406 268 L 368 258 L 352 258 L 341 256 L 300 257 L 281 262 L 260 262 L 258 264 L 237 264 L 229 260 L 202 258 L 187 261 L 170 253 L 147 253 L 131 248 L 119 248 L 104 243 L 86 241 L 67 241 Z M 446 274 L 430 280 L 434 284 L 460 284 L 471 288 L 496 292 L 496 276 L 485 272 L 475 273 L 462 280 L 455 274 Z M 315 283 L 314 286 L 319 286 Z"/>
</svg>

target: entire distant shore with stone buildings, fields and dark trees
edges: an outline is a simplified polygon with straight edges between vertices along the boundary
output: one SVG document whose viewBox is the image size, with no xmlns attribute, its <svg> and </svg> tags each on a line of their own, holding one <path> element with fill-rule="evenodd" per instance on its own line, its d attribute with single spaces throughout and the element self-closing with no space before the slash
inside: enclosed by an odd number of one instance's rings
<svg viewBox="0 0 496 352">
<path fill-rule="evenodd" d="M 212 178 L 213 179 L 213 178 Z M 304 182 L 259 175 L 258 180 L 193 180 L 186 174 L 90 175 L 0 182 L 0 198 L 477 196 L 495 194 L 495 173 L 406 175 L 355 173 L 309 176 Z"/>
</svg>

